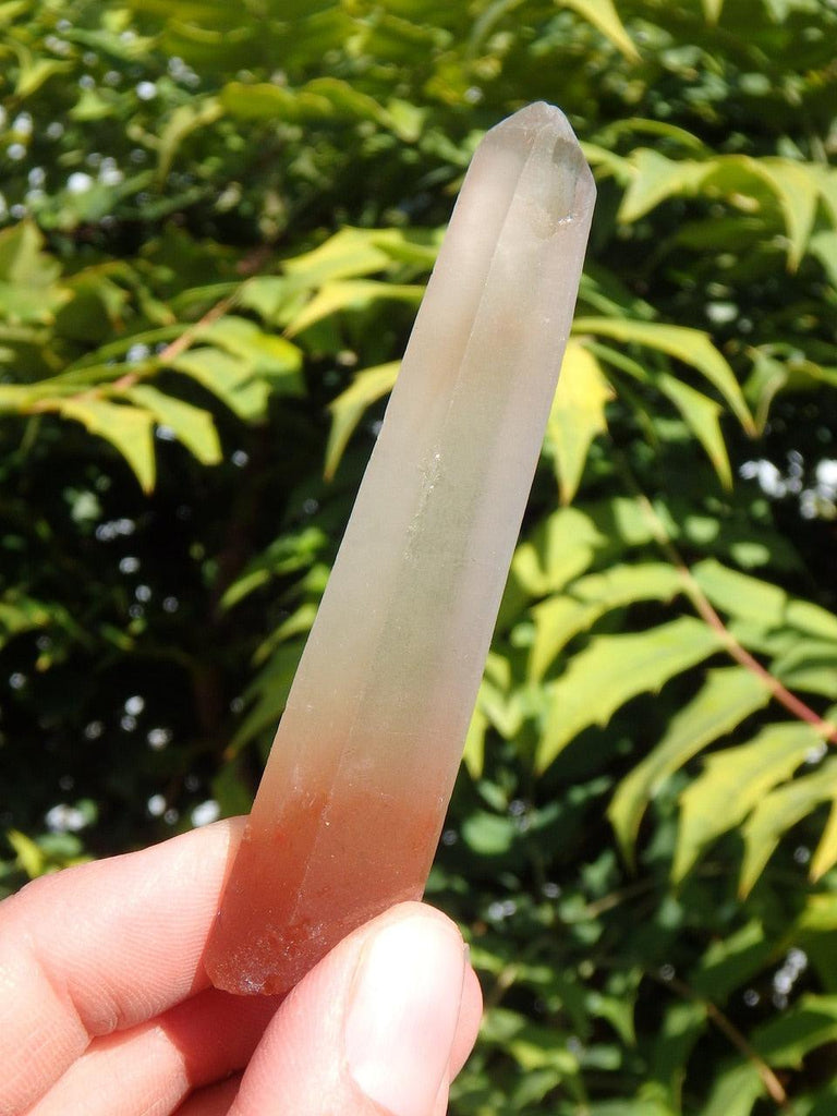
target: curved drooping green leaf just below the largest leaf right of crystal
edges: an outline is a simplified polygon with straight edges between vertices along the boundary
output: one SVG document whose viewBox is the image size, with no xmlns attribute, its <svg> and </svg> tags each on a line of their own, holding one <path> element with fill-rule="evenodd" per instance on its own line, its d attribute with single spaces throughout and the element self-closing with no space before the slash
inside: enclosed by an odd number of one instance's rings
<svg viewBox="0 0 837 1116">
<path fill-rule="evenodd" d="M 656 748 L 622 780 L 614 795 L 607 814 L 629 864 L 645 808 L 663 782 L 769 699 L 766 683 L 742 666 L 709 672 L 698 695 L 672 718 Z"/>
</svg>

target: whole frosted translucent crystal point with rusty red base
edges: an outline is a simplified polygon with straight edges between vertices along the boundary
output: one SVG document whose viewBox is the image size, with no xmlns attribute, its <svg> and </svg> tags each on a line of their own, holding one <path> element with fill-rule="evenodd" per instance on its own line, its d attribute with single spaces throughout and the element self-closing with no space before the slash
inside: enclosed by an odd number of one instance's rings
<svg viewBox="0 0 837 1116">
<path fill-rule="evenodd" d="M 503 121 L 473 157 L 208 944 L 219 988 L 285 992 L 422 894 L 594 200 L 549 105 Z"/>
</svg>

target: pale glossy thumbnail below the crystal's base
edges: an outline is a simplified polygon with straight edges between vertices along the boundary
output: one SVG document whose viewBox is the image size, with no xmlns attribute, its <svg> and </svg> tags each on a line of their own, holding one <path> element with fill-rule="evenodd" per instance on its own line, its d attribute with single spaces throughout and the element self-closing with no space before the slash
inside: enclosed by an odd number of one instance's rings
<svg viewBox="0 0 837 1116">
<path fill-rule="evenodd" d="M 416 914 L 381 930 L 362 955 L 346 1020 L 349 1070 L 393 1116 L 430 1116 L 448 1075 L 464 979 L 454 927 Z"/>
</svg>

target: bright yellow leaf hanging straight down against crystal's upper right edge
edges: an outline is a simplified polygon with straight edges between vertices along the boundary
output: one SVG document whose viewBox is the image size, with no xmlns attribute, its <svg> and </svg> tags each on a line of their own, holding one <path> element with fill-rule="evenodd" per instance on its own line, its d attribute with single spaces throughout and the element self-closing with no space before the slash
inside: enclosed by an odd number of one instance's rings
<svg viewBox="0 0 837 1116">
<path fill-rule="evenodd" d="M 590 444 L 607 431 L 605 404 L 614 392 L 593 353 L 570 339 L 547 423 L 547 444 L 556 455 L 561 501 L 578 491 Z"/>
</svg>

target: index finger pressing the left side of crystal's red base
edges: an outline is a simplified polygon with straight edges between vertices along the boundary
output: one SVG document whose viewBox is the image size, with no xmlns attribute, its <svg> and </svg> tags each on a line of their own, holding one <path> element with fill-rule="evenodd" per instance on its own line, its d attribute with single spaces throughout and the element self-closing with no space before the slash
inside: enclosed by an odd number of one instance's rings
<svg viewBox="0 0 837 1116">
<path fill-rule="evenodd" d="M 219 821 L 0 904 L 0 1116 L 25 1110 L 94 1037 L 209 984 L 201 956 L 242 830 Z"/>
</svg>

